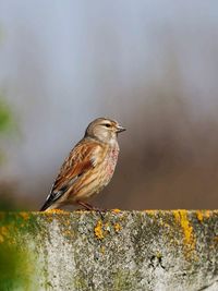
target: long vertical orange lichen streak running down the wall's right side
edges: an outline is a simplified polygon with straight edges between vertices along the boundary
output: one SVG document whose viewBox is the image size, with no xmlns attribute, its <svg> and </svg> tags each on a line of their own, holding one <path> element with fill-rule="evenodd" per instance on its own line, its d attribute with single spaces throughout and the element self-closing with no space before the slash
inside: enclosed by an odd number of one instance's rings
<svg viewBox="0 0 218 291">
<path fill-rule="evenodd" d="M 181 226 L 184 233 L 184 243 L 189 250 L 193 251 L 196 245 L 196 240 L 193 233 L 193 227 L 187 219 L 187 210 L 174 210 L 175 221 Z"/>
</svg>

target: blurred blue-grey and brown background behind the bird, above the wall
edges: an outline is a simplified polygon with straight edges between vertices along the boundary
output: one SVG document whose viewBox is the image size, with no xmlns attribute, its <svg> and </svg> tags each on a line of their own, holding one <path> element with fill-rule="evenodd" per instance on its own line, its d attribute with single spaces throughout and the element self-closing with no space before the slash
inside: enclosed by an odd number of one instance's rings
<svg viewBox="0 0 218 291">
<path fill-rule="evenodd" d="M 102 208 L 216 208 L 218 2 L 0 1 L 0 209 L 37 210 L 86 125 L 118 120 Z"/>
</svg>

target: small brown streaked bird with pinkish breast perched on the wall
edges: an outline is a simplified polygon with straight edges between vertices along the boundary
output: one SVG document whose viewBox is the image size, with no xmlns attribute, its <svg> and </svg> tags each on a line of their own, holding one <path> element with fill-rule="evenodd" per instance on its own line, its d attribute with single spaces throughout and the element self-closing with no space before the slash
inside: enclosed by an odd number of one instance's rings
<svg viewBox="0 0 218 291">
<path fill-rule="evenodd" d="M 68 204 L 93 209 L 86 201 L 110 182 L 120 150 L 118 133 L 123 131 L 125 129 L 111 119 L 98 118 L 90 122 L 83 140 L 64 160 L 40 211 Z"/>
</svg>

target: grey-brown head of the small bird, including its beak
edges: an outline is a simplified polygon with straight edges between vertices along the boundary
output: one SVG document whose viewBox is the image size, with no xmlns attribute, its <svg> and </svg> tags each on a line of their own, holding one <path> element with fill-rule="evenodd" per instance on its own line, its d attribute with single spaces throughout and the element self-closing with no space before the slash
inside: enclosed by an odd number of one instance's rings
<svg viewBox="0 0 218 291">
<path fill-rule="evenodd" d="M 85 136 L 94 137 L 104 143 L 117 140 L 118 133 L 125 131 L 116 120 L 98 118 L 90 122 Z"/>
</svg>

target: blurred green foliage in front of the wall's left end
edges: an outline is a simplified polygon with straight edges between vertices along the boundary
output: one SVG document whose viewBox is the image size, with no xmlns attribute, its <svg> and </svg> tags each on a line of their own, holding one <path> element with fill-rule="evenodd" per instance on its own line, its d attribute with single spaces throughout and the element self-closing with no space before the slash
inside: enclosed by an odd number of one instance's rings
<svg viewBox="0 0 218 291">
<path fill-rule="evenodd" d="M 23 245 L 23 235 L 31 231 L 35 220 L 28 215 L 0 213 L 0 291 L 40 290 L 34 253 Z"/>
</svg>

